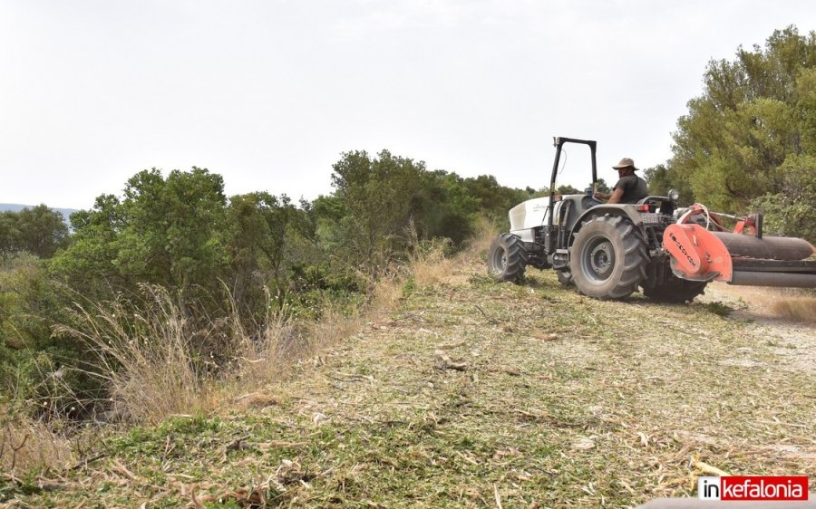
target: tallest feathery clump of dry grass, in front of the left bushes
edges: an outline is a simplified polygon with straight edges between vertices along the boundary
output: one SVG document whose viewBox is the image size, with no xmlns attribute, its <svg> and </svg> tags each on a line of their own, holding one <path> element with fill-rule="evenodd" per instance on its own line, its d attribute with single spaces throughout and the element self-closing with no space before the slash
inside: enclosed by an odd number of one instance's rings
<svg viewBox="0 0 816 509">
<path fill-rule="evenodd" d="M 110 417 L 158 423 L 173 414 L 207 408 L 206 364 L 194 359 L 193 341 L 170 293 L 143 286 L 137 309 L 130 302 L 77 304 L 72 327 L 55 332 L 90 345 L 96 354 L 89 370 L 111 393 Z"/>
</svg>

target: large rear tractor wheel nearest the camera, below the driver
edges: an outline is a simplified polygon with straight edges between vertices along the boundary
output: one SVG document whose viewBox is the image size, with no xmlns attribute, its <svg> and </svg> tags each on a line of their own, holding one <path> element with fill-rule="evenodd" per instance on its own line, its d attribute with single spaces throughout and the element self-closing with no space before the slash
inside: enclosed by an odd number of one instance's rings
<svg viewBox="0 0 816 509">
<path fill-rule="evenodd" d="M 586 221 L 569 253 L 578 291 L 596 299 L 623 299 L 646 279 L 646 241 L 628 219 L 595 216 Z"/>
</svg>

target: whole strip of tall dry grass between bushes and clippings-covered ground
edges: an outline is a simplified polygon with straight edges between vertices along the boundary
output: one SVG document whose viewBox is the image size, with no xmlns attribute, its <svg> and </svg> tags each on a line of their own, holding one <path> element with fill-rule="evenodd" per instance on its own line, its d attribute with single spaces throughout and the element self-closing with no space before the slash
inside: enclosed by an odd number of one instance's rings
<svg viewBox="0 0 816 509">
<path fill-rule="evenodd" d="M 350 312 L 327 305 L 319 319 L 298 319 L 286 308 L 269 305 L 267 309 L 277 311 L 248 331 L 231 298 L 227 316 L 209 321 L 191 316 L 166 289 L 143 285 L 139 297 L 76 303 L 72 324 L 56 327 L 54 333 L 90 347 L 93 358 L 86 371 L 107 389 L 107 399 L 100 402 L 107 410 L 100 414 L 102 420 L 156 424 L 173 415 L 240 407 L 248 401 L 241 396 L 263 398 L 267 386 L 286 377 L 293 363 L 314 358 L 361 331 L 366 322 L 392 312 L 409 278 L 418 286 L 448 280 L 456 264 L 449 251 L 447 243 L 420 242 L 414 235 L 407 260 L 372 281 L 367 306 Z M 268 295 L 267 300 L 273 301 Z M 6 414 L 0 411 L 0 417 Z M 46 425 L 0 418 L 0 470 L 14 474 L 76 463 L 82 455 L 53 426 L 59 421 Z"/>
</svg>

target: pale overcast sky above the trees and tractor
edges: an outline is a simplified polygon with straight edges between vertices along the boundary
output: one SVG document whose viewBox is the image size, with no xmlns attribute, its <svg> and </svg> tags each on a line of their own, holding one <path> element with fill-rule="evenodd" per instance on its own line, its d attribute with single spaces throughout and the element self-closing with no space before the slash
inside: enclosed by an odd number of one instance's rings
<svg viewBox="0 0 816 509">
<path fill-rule="evenodd" d="M 0 0 L 0 203 L 90 208 L 145 168 L 332 192 L 350 150 L 549 185 L 671 157 L 707 63 L 812 0 Z M 559 183 L 585 187 L 588 149 Z"/>
</svg>

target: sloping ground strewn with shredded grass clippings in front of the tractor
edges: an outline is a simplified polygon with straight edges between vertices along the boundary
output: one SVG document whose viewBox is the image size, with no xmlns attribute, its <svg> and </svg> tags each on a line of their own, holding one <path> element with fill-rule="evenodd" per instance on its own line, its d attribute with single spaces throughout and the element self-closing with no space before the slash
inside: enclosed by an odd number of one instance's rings
<svg viewBox="0 0 816 509">
<path fill-rule="evenodd" d="M 814 481 L 812 326 L 729 317 L 733 304 L 710 295 L 593 301 L 538 271 L 497 284 L 472 259 L 442 279 L 407 284 L 397 309 L 286 380 L 214 415 L 112 433 L 87 463 L 27 479 L 15 496 L 625 507 L 691 495 L 709 466 Z"/>
</svg>

